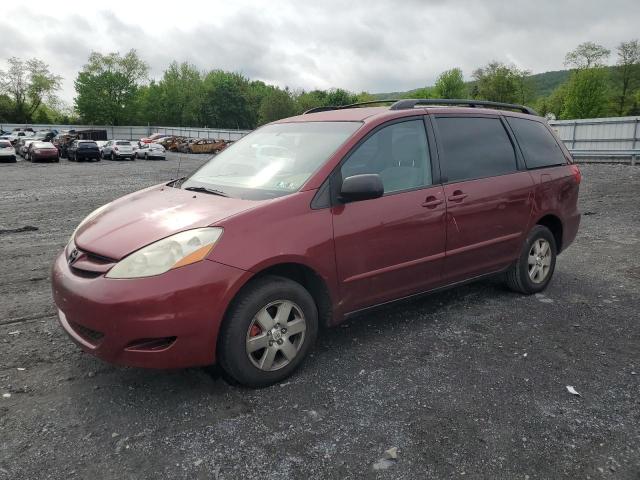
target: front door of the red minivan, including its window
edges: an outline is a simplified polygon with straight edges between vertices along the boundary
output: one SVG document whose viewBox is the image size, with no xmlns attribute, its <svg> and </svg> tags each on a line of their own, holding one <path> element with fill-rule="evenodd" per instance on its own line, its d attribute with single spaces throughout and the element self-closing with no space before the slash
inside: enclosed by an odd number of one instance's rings
<svg viewBox="0 0 640 480">
<path fill-rule="evenodd" d="M 380 175 L 384 196 L 332 207 L 344 312 L 437 286 L 444 259 L 444 192 L 432 182 L 423 120 L 374 131 L 337 177 L 365 173 Z"/>
</svg>

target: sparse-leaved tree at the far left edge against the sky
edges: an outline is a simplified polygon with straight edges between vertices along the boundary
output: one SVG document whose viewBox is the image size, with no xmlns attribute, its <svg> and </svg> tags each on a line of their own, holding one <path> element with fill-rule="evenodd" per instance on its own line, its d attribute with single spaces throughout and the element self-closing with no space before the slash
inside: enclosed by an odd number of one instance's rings
<svg viewBox="0 0 640 480">
<path fill-rule="evenodd" d="M 53 101 L 62 77 L 51 73 L 42 60 L 20 60 L 11 57 L 9 69 L 0 71 L 0 93 L 9 96 L 14 106 L 14 119 L 29 122 L 43 101 Z"/>
</svg>

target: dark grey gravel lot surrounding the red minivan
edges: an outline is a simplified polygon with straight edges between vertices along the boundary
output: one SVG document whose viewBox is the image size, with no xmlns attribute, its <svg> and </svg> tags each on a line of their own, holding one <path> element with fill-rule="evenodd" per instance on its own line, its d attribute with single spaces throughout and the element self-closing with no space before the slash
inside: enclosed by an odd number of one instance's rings
<svg viewBox="0 0 640 480">
<path fill-rule="evenodd" d="M 0 165 L 0 479 L 640 478 L 639 167 L 583 167 L 544 295 L 490 280 L 388 307 L 256 391 L 102 363 L 54 317 L 76 224 L 178 163 Z"/>
</svg>

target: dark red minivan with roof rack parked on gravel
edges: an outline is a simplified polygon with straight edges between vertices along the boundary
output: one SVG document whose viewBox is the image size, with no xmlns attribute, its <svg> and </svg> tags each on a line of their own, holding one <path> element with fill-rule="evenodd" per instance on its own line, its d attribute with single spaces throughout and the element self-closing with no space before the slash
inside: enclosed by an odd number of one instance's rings
<svg viewBox="0 0 640 480">
<path fill-rule="evenodd" d="M 53 266 L 62 327 L 110 362 L 218 363 L 265 386 L 319 326 L 365 309 L 495 274 L 547 287 L 581 176 L 543 118 L 472 100 L 350 107 L 266 125 L 91 213 Z"/>
</svg>

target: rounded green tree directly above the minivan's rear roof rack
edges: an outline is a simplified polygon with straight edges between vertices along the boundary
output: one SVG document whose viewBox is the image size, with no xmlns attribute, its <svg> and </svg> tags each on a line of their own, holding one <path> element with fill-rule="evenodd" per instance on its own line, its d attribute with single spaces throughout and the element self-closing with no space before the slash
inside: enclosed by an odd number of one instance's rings
<svg viewBox="0 0 640 480">
<path fill-rule="evenodd" d="M 527 71 L 500 62 L 490 62 L 473 72 L 476 98 L 494 102 L 517 103 L 523 99 L 523 78 Z M 526 100 L 526 98 L 525 98 Z"/>
</svg>

